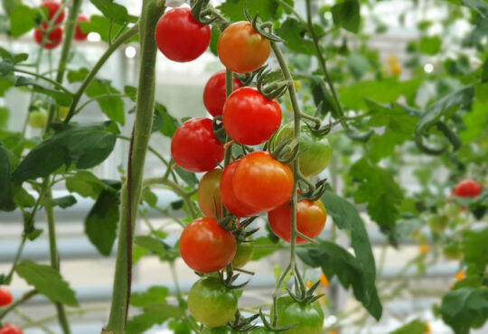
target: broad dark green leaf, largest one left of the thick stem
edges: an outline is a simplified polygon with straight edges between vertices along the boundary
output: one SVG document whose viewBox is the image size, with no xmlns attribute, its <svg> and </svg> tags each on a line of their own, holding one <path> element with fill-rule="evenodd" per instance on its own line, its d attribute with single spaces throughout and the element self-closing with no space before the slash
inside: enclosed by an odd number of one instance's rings
<svg viewBox="0 0 488 334">
<path fill-rule="evenodd" d="M 95 125 L 56 125 L 57 133 L 35 146 L 12 173 L 13 181 L 46 177 L 62 165 L 87 169 L 107 159 L 117 136 Z"/>
</svg>

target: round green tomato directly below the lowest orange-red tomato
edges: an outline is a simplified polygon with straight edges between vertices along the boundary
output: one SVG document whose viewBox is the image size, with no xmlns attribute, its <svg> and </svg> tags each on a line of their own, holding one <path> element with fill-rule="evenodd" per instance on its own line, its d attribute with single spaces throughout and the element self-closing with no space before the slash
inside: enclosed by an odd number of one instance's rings
<svg viewBox="0 0 488 334">
<path fill-rule="evenodd" d="M 203 278 L 188 292 L 192 316 L 208 327 L 225 326 L 237 311 L 238 299 L 217 277 Z"/>
</svg>

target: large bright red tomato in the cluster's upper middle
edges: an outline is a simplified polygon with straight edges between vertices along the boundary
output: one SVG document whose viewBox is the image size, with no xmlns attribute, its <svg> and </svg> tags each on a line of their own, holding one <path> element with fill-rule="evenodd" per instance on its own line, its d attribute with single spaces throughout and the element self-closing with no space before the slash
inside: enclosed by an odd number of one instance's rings
<svg viewBox="0 0 488 334">
<path fill-rule="evenodd" d="M 266 142 L 281 124 L 281 107 L 257 88 L 243 87 L 225 101 L 222 113 L 225 131 L 240 144 Z"/>
</svg>

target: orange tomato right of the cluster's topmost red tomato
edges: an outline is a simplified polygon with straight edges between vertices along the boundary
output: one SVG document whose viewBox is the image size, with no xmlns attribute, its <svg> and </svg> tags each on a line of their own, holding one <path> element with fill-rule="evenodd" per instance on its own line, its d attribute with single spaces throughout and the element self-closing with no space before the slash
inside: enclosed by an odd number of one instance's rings
<svg viewBox="0 0 488 334">
<path fill-rule="evenodd" d="M 249 22 L 230 24 L 221 33 L 217 53 L 224 66 L 236 73 L 258 70 L 269 57 L 270 44 Z"/>
</svg>

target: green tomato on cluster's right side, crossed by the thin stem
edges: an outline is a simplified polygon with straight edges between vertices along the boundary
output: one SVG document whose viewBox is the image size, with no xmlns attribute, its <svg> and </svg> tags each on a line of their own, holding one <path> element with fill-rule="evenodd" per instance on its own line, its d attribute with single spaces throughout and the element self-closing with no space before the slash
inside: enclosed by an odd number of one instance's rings
<svg viewBox="0 0 488 334">
<path fill-rule="evenodd" d="M 279 130 L 275 138 L 275 144 L 284 139 L 293 139 L 295 134 L 294 124 L 288 123 Z M 331 162 L 333 147 L 326 137 L 314 135 L 306 125 L 300 127 L 300 152 L 305 151 L 298 158 L 300 172 L 305 177 L 317 175 Z"/>
</svg>

